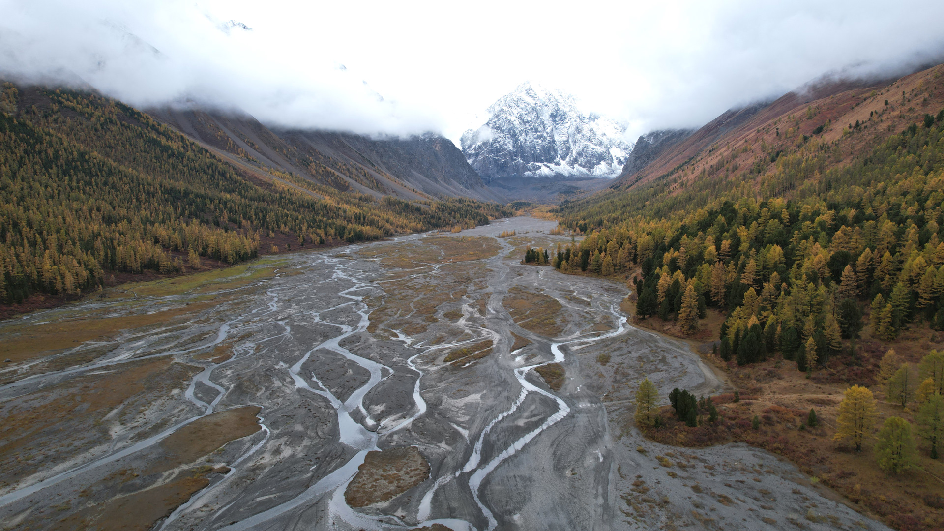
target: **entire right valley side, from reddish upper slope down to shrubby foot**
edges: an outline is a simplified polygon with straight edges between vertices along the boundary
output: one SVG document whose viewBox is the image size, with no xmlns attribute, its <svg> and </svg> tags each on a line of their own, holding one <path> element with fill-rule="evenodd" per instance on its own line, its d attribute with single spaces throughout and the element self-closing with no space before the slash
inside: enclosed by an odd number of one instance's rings
<svg viewBox="0 0 944 531">
<path fill-rule="evenodd" d="M 814 84 L 729 111 L 609 190 L 561 205 L 562 225 L 586 237 L 525 261 L 626 279 L 637 324 L 697 341 L 758 401 L 701 400 L 687 428 L 679 405 L 679 423 L 642 422 L 651 437 L 747 441 L 896 528 L 939 529 L 942 133 L 944 65 Z M 854 437 L 844 389 L 862 406 Z M 722 403 L 732 407 L 714 423 Z M 807 419 L 811 405 L 828 426 Z M 821 433 L 801 437 L 798 423 Z"/>
</svg>

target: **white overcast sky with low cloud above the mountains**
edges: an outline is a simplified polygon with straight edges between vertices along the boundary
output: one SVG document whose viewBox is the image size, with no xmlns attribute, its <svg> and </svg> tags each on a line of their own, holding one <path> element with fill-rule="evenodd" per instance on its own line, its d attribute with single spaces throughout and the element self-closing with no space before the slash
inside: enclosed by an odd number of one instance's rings
<svg viewBox="0 0 944 531">
<path fill-rule="evenodd" d="M 0 0 L 0 72 L 81 78 L 284 126 L 457 141 L 530 80 L 587 111 L 693 127 L 829 72 L 940 57 L 944 2 Z M 232 26 L 229 21 L 251 28 Z"/>
</svg>

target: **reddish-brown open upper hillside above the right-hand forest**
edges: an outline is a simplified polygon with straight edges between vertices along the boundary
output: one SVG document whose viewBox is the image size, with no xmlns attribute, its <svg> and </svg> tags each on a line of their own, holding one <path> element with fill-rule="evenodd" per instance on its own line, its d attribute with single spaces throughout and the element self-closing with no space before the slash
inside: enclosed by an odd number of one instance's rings
<svg viewBox="0 0 944 531">
<path fill-rule="evenodd" d="M 834 156 L 818 167 L 820 175 L 804 174 L 818 181 L 829 167 L 859 161 L 866 150 L 934 111 L 929 106 L 939 94 L 922 96 L 919 105 L 905 94 L 908 105 L 903 108 L 902 94 L 890 94 L 897 85 L 926 92 L 925 85 L 914 79 L 934 79 L 936 71 L 922 72 L 900 80 L 821 81 L 768 104 L 727 111 L 643 167 L 627 170 L 610 189 L 573 201 L 561 213 L 568 220 L 577 217 L 595 226 L 639 214 L 639 209 L 648 215 L 678 215 L 715 204 L 722 196 L 739 200 L 776 193 L 797 198 L 801 193 L 805 197 L 808 192 L 800 191 L 808 190 L 814 180 L 771 184 L 784 179 L 784 163 L 809 160 L 829 150 Z"/>
</svg>

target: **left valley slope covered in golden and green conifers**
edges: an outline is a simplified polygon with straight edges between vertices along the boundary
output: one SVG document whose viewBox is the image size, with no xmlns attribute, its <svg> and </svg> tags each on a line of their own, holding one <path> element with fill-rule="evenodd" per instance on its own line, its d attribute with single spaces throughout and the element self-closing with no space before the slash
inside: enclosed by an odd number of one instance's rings
<svg viewBox="0 0 944 531">
<path fill-rule="evenodd" d="M 208 131 L 216 122 L 197 123 Z M 252 159 L 225 133 L 209 138 L 216 146 L 208 150 L 96 94 L 5 83 L 0 302 L 34 292 L 77 295 L 114 273 L 192 270 L 200 257 L 233 264 L 293 245 L 472 227 L 512 214 L 464 198 L 378 197 L 383 186 L 410 188 L 359 166 L 347 177 L 312 161 L 309 171 L 321 179 L 306 179 L 291 165 L 301 158 L 278 139 L 261 150 L 290 164 L 280 168 Z M 435 152 L 435 141 L 426 142 Z"/>
</svg>

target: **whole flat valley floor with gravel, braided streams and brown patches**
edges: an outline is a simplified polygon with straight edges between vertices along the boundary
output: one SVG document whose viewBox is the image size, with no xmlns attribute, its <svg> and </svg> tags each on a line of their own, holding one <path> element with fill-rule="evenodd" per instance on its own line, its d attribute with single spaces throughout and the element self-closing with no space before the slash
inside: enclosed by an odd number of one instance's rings
<svg viewBox="0 0 944 531">
<path fill-rule="evenodd" d="M 569 241 L 554 226 L 271 256 L 0 323 L 0 527 L 887 529 L 774 454 L 642 437 L 644 376 L 725 385 L 628 325 L 623 284 L 520 265 Z"/>
</svg>

